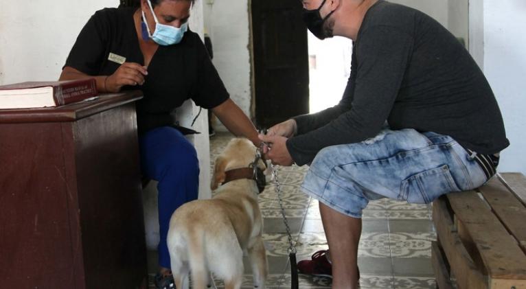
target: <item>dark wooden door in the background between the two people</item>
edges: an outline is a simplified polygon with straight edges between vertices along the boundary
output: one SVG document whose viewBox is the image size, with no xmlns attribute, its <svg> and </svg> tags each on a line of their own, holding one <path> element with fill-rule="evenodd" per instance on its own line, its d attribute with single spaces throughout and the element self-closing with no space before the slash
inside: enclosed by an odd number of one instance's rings
<svg viewBox="0 0 526 289">
<path fill-rule="evenodd" d="M 269 128 L 309 111 L 307 28 L 301 1 L 252 0 L 255 119 Z"/>
</svg>

